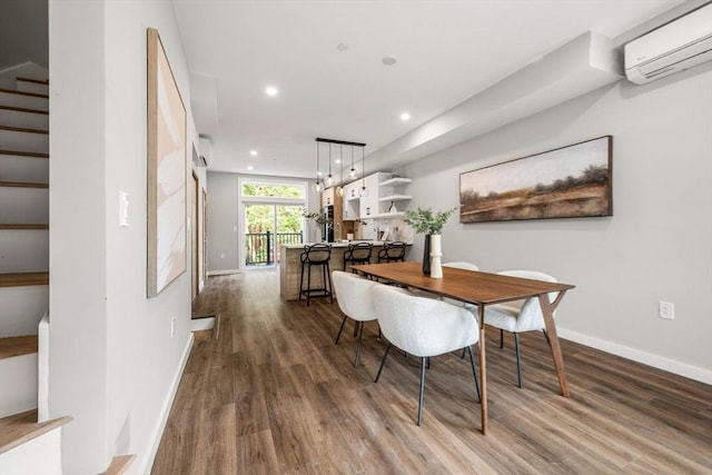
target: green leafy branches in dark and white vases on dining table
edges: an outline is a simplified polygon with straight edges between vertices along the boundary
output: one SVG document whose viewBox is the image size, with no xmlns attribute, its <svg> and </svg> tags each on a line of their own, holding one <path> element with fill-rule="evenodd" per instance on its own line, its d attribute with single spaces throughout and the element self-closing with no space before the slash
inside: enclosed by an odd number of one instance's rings
<svg viewBox="0 0 712 475">
<path fill-rule="evenodd" d="M 413 228 L 415 232 L 425 235 L 423 247 L 423 274 L 434 278 L 443 277 L 439 258 L 441 253 L 441 232 L 443 226 L 453 216 L 457 207 L 446 209 L 444 211 L 434 212 L 432 208 L 407 209 L 405 211 L 404 221 Z M 431 266 L 431 256 L 434 258 L 435 266 Z M 433 267 L 433 268 L 432 268 Z"/>
</svg>

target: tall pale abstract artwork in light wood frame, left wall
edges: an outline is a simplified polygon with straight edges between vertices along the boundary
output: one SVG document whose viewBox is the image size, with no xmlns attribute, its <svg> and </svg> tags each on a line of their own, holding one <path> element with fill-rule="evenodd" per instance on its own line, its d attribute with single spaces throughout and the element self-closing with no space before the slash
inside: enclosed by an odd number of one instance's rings
<svg viewBox="0 0 712 475">
<path fill-rule="evenodd" d="M 186 271 L 186 108 L 158 36 L 147 32 L 148 297 Z"/>
</svg>

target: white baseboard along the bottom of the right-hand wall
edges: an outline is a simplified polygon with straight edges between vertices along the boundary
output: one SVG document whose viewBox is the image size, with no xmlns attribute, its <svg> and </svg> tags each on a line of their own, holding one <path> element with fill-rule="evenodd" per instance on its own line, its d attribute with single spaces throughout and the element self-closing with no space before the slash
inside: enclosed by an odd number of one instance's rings
<svg viewBox="0 0 712 475">
<path fill-rule="evenodd" d="M 611 353 L 612 355 L 621 356 L 626 359 L 632 359 L 633 362 L 642 363 L 657 369 L 674 373 L 700 383 L 712 384 L 712 369 L 692 366 L 686 363 L 665 358 L 660 355 L 653 355 L 652 353 L 642 352 L 640 349 L 606 342 L 604 339 L 594 338 L 565 328 L 557 328 L 556 330 L 561 338 L 570 339 L 581 345 L 590 346 L 605 353 Z"/>
</svg>

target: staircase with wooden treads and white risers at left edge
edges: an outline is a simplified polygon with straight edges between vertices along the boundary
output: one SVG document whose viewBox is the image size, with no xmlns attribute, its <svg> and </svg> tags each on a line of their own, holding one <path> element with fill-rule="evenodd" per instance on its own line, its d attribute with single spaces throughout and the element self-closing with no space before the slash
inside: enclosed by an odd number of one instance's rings
<svg viewBox="0 0 712 475">
<path fill-rule="evenodd" d="M 0 82 L 0 473 L 61 474 L 60 432 L 47 419 L 49 81 Z M 44 340 L 46 338 L 42 338 Z M 38 360 L 39 354 L 42 355 Z M 43 362 L 43 363 L 40 363 Z M 44 400 L 38 423 L 38 399 Z"/>
</svg>

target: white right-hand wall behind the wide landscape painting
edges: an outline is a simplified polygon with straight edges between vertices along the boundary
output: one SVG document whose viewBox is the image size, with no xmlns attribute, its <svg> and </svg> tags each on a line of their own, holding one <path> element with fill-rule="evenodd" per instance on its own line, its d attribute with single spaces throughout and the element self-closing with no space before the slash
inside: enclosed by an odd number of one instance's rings
<svg viewBox="0 0 712 475">
<path fill-rule="evenodd" d="M 644 87 L 617 82 L 400 171 L 414 178 L 412 207 L 441 209 L 458 204 L 461 172 L 603 135 L 614 137 L 613 217 L 455 218 L 443 258 L 574 284 L 557 313 L 562 336 L 712 383 L 712 63 Z M 659 300 L 675 304 L 674 320 L 657 317 Z"/>
</svg>

